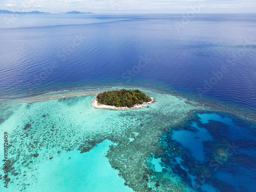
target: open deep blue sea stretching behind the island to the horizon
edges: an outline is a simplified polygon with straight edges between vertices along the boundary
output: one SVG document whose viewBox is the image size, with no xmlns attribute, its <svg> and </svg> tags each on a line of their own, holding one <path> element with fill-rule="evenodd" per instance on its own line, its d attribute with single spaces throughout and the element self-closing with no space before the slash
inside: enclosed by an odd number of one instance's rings
<svg viewBox="0 0 256 192">
<path fill-rule="evenodd" d="M 256 109 L 255 16 L 2 14 L 0 98 L 150 80 Z"/>
</svg>

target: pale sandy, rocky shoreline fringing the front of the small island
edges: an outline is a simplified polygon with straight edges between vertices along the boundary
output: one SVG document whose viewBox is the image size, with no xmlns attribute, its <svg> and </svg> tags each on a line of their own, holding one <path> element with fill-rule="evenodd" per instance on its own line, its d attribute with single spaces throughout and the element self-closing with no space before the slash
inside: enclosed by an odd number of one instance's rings
<svg viewBox="0 0 256 192">
<path fill-rule="evenodd" d="M 151 101 L 143 102 L 143 104 L 135 104 L 134 106 L 129 108 L 127 106 L 111 106 L 111 105 L 100 104 L 100 103 L 98 103 L 96 98 L 94 98 L 92 100 L 91 106 L 93 106 L 94 108 L 97 108 L 97 109 L 129 110 L 129 109 L 139 109 L 142 107 L 148 108 L 149 106 L 147 106 L 146 104 L 152 104 L 154 102 L 156 102 L 155 98 L 151 97 Z"/>
</svg>

